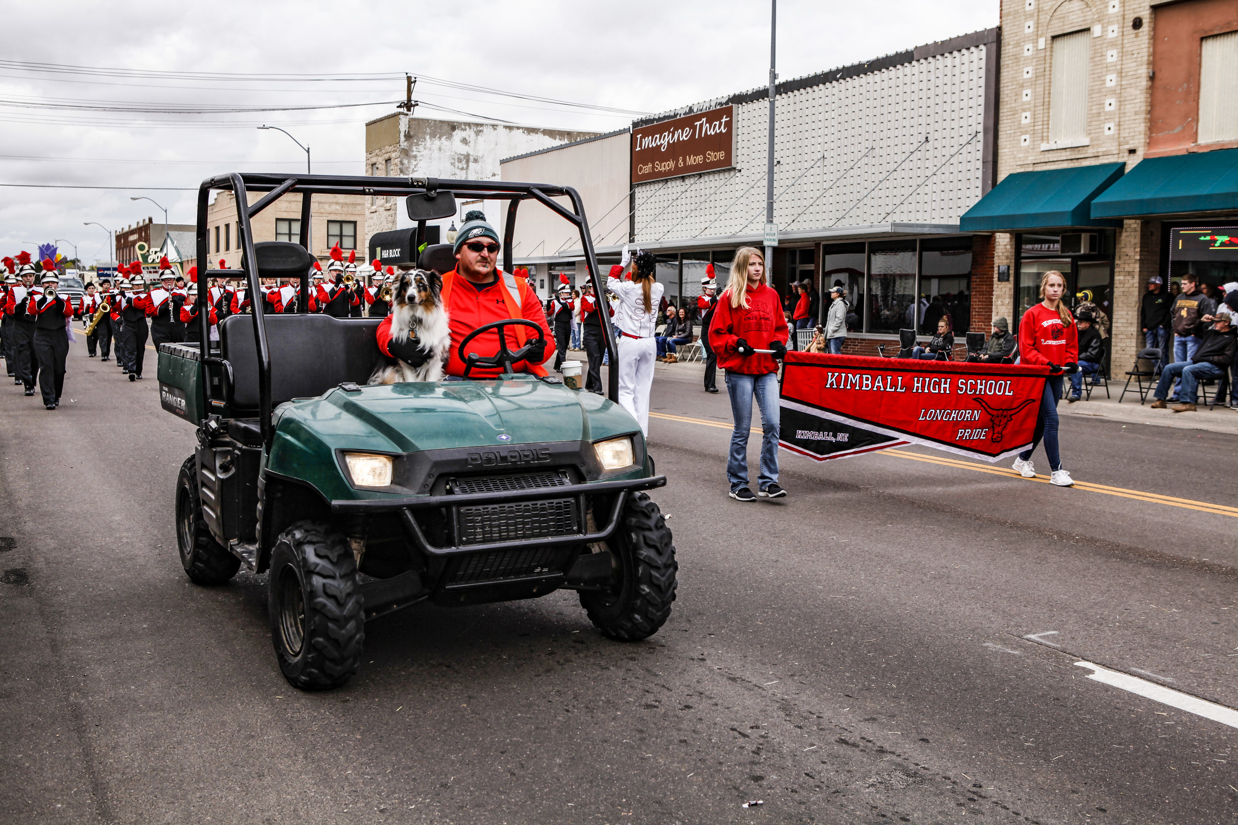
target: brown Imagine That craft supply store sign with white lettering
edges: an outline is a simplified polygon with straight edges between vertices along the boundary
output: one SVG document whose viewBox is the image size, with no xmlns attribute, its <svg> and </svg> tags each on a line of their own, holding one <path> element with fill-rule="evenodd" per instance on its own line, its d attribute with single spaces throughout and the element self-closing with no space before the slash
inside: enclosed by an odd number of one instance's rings
<svg viewBox="0 0 1238 825">
<path fill-rule="evenodd" d="M 722 106 L 631 132 L 631 182 L 646 183 L 733 167 L 735 108 Z"/>
</svg>

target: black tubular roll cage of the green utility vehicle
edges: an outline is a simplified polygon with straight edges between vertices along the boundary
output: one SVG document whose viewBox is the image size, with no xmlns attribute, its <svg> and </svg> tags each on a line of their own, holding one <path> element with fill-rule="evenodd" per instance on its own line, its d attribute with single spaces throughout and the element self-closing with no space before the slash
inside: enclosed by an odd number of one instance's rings
<svg viewBox="0 0 1238 825">
<path fill-rule="evenodd" d="M 210 355 L 209 346 L 209 310 L 207 309 L 207 293 L 210 278 L 236 277 L 236 270 L 212 270 L 203 265 L 209 265 L 209 244 L 207 233 L 207 202 L 213 189 L 228 190 L 236 199 L 236 242 L 241 250 L 241 271 L 250 296 L 250 307 L 254 318 L 254 340 L 258 344 L 258 383 L 259 383 L 259 425 L 262 432 L 262 444 L 271 445 L 271 354 L 266 338 L 265 310 L 261 301 L 262 277 L 258 271 L 258 256 L 254 250 L 254 233 L 251 221 L 259 214 L 285 194 L 295 193 L 301 195 L 301 236 L 300 245 L 312 255 L 310 249 L 310 219 L 313 195 L 316 194 L 352 194 L 373 197 L 404 197 L 407 199 L 425 198 L 433 200 L 439 193 L 468 194 L 472 199 L 480 200 L 508 200 L 508 219 L 503 236 L 503 270 L 511 272 L 513 239 L 516 233 L 516 210 L 522 200 L 537 200 L 551 212 L 558 214 L 565 220 L 576 224 L 581 234 L 581 247 L 584 250 L 584 262 L 588 267 L 589 282 L 593 292 L 602 299 L 605 296 L 605 283 L 598 275 L 598 261 L 593 251 L 593 240 L 589 237 L 588 221 L 584 216 L 584 203 L 581 195 L 572 187 L 552 186 L 545 183 L 511 183 L 506 181 L 447 181 L 438 178 L 378 178 L 365 176 L 333 176 L 333 174 L 262 174 L 233 172 L 230 174 L 218 174 L 207 178 L 198 187 L 198 293 L 194 306 L 197 308 L 197 324 L 199 341 L 203 341 L 201 370 L 202 386 L 210 386 L 209 367 L 214 366 L 222 371 L 230 371 L 230 365 L 222 357 Z M 265 192 L 261 198 L 249 204 L 249 192 Z M 572 209 L 569 212 L 552 198 L 569 198 Z M 413 212 L 410 204 L 410 214 Z M 454 214 L 454 213 L 453 213 Z M 426 234 L 426 220 L 417 223 L 417 240 L 420 245 Z M 281 277 L 282 273 L 281 273 Z M 298 313 L 310 312 L 310 267 L 300 273 L 300 288 L 297 302 Z M 610 355 L 610 364 L 617 362 L 615 333 L 607 312 L 600 312 L 603 340 L 607 353 Z M 619 397 L 619 372 L 612 369 L 608 376 L 607 397 L 618 401 Z"/>
</svg>

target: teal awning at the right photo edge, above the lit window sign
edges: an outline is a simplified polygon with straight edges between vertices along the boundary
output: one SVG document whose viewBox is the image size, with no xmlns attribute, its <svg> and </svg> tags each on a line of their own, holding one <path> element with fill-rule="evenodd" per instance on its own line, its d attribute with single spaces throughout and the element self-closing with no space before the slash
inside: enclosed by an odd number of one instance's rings
<svg viewBox="0 0 1238 825">
<path fill-rule="evenodd" d="M 1238 210 L 1238 148 L 1140 161 L 1092 202 L 1093 218 Z"/>
</svg>

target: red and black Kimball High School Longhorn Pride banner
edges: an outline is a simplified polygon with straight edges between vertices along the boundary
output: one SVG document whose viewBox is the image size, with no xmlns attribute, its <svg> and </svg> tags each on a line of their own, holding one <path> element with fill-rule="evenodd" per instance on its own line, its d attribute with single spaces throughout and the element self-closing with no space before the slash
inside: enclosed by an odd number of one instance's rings
<svg viewBox="0 0 1238 825">
<path fill-rule="evenodd" d="M 997 461 L 1031 445 L 1047 366 L 787 353 L 780 444 L 817 461 L 906 444 Z"/>
</svg>

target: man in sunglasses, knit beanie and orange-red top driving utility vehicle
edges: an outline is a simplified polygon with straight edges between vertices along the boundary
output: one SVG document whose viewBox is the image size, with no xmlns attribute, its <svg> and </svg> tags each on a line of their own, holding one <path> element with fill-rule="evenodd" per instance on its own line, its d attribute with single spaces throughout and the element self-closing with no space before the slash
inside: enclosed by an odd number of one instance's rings
<svg viewBox="0 0 1238 825">
<path fill-rule="evenodd" d="M 546 313 L 542 312 L 541 301 L 525 278 L 508 276 L 498 268 L 499 250 L 499 234 L 485 220 L 485 213 L 478 209 L 467 213 L 464 225 L 456 235 L 456 245 L 452 250 L 456 255 L 456 268 L 443 275 L 441 292 L 442 306 L 447 310 L 452 334 L 444 370 L 449 376 L 464 376 L 464 362 L 458 353 L 464 338 L 474 329 L 509 318 L 531 320 L 541 328 L 542 335 L 545 335 L 540 346 L 529 354 L 530 357 L 526 361 L 516 361 L 511 369 L 516 372 L 546 375 L 541 364 L 546 360 L 546 341 L 553 340 L 550 327 L 546 324 Z M 394 341 L 391 339 L 392 318 L 394 315 L 387 315 L 379 324 L 379 349 L 413 367 L 421 366 L 431 357 L 430 353 L 421 348 L 421 343 L 413 335 L 410 335 L 407 341 Z M 508 350 L 513 353 L 525 346 L 530 340 L 536 340 L 534 330 L 524 325 L 508 327 L 503 333 L 508 339 Z M 469 344 L 469 351 L 477 353 L 482 357 L 491 357 L 498 354 L 499 330 L 490 330 L 475 338 Z M 503 370 L 495 367 L 474 367 L 469 372 L 469 377 L 490 378 L 501 372 Z"/>
</svg>

